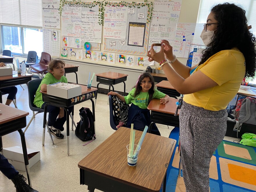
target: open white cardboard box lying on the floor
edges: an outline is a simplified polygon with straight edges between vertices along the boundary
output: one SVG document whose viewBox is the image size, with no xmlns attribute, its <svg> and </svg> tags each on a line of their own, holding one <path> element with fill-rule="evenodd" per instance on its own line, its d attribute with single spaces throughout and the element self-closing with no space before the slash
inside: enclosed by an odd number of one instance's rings
<svg viewBox="0 0 256 192">
<path fill-rule="evenodd" d="M 29 168 L 40 160 L 40 151 L 27 149 L 29 157 Z M 26 171 L 22 147 L 3 148 L 3 155 L 8 159 L 15 169 Z"/>
</svg>

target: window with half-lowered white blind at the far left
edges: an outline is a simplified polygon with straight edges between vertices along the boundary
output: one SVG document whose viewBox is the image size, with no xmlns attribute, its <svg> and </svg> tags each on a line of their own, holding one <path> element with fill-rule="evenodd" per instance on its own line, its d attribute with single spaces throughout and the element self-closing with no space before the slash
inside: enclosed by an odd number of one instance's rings
<svg viewBox="0 0 256 192">
<path fill-rule="evenodd" d="M 0 51 L 43 51 L 42 0 L 0 0 Z"/>
</svg>

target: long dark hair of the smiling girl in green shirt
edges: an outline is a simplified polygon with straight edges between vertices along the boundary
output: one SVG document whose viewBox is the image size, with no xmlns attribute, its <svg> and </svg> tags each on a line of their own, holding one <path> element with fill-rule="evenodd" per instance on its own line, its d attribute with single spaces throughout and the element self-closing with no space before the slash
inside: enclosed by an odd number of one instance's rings
<svg viewBox="0 0 256 192">
<path fill-rule="evenodd" d="M 141 84 L 142 84 L 142 80 L 143 80 L 145 77 L 149 77 L 149 79 L 150 79 L 150 81 L 151 81 L 151 84 L 152 84 L 152 87 L 151 87 L 150 90 L 148 91 L 148 93 L 149 93 L 149 100 L 148 100 L 148 103 L 150 103 L 150 101 L 151 101 L 152 98 L 153 98 L 154 92 L 155 92 L 155 89 L 154 89 L 154 87 L 155 87 L 154 78 L 153 78 L 153 76 L 152 76 L 150 73 L 143 73 L 143 74 L 141 74 L 141 75 L 139 76 L 136 85 L 133 87 L 133 88 L 135 88 L 135 92 L 134 92 L 134 95 L 132 95 L 132 97 L 136 98 L 136 96 L 141 93 L 141 90 L 142 90 Z"/>
</svg>

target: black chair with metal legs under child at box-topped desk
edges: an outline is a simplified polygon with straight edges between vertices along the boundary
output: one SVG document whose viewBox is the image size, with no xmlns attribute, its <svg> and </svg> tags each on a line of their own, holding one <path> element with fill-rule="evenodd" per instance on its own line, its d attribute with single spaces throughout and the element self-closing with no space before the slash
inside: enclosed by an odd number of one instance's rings
<svg viewBox="0 0 256 192">
<path fill-rule="evenodd" d="M 44 109 L 38 108 L 37 106 L 34 105 L 34 99 L 35 99 L 35 92 L 38 89 L 40 83 L 41 83 L 42 79 L 34 79 L 28 82 L 28 92 L 29 92 L 29 108 L 33 111 L 33 116 L 31 118 L 31 120 L 29 121 L 28 125 L 26 126 L 25 130 L 24 130 L 24 134 L 26 132 L 26 130 L 29 128 L 29 125 L 31 124 L 31 122 L 33 121 L 33 119 L 35 118 L 35 115 L 37 115 L 38 113 L 43 113 Z M 35 113 L 36 112 L 36 113 Z M 51 137 L 51 141 L 54 145 L 52 136 L 51 136 L 51 132 L 48 126 L 48 123 L 46 121 L 46 127 L 48 130 L 48 133 Z M 43 130 L 43 143 L 45 143 L 45 128 Z"/>
</svg>

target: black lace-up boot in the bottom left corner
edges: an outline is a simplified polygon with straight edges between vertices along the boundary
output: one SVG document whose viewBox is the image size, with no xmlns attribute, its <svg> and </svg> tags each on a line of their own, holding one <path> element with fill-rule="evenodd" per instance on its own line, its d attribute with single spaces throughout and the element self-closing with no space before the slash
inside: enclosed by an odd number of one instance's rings
<svg viewBox="0 0 256 192">
<path fill-rule="evenodd" d="M 13 179 L 11 179 L 12 182 L 14 183 L 14 186 L 16 188 L 16 192 L 38 192 L 35 189 L 32 189 L 27 183 L 26 183 L 26 178 L 19 174 Z"/>
</svg>

